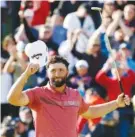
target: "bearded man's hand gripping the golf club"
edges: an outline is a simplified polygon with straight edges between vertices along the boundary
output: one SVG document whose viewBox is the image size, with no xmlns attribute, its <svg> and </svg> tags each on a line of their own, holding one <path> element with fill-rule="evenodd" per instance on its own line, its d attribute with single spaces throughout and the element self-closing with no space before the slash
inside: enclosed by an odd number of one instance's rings
<svg viewBox="0 0 135 137">
<path fill-rule="evenodd" d="M 120 94 L 116 99 L 118 107 L 125 107 L 126 105 L 130 105 L 130 98 L 124 93 Z"/>
</svg>

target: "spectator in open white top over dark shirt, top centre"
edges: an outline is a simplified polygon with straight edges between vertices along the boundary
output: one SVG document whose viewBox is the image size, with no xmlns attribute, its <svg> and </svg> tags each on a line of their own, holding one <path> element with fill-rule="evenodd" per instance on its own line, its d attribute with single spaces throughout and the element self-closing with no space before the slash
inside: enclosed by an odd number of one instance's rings
<svg viewBox="0 0 135 137">
<path fill-rule="evenodd" d="M 76 30 L 80 32 L 77 40 L 77 50 L 83 53 L 86 49 L 88 38 L 95 30 L 94 22 L 87 12 L 87 4 L 82 4 L 76 12 L 69 13 L 64 19 L 63 27 L 71 33 Z"/>
</svg>

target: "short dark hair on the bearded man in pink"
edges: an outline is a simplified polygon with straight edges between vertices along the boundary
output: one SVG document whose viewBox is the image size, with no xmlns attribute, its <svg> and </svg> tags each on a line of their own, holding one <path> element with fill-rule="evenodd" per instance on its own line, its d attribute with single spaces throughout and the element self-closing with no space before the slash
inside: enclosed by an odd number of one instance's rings
<svg viewBox="0 0 135 137">
<path fill-rule="evenodd" d="M 50 59 L 47 62 L 46 68 L 48 69 L 50 64 L 55 64 L 55 63 L 63 63 L 66 66 L 66 68 L 68 69 L 69 63 L 67 62 L 66 59 L 64 59 L 61 56 L 50 57 Z"/>
</svg>

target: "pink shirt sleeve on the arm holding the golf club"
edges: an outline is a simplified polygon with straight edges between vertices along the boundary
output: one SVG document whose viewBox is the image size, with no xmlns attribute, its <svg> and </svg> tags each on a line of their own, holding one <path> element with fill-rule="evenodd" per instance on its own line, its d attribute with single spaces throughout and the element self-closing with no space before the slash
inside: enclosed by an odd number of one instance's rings
<svg viewBox="0 0 135 137">
<path fill-rule="evenodd" d="M 79 108 L 79 115 L 83 114 L 84 112 L 86 112 L 89 108 L 89 104 L 85 103 L 85 101 L 83 100 L 83 98 L 81 98 L 80 101 L 80 108 Z"/>
</svg>

